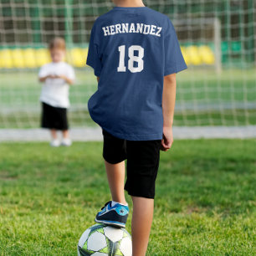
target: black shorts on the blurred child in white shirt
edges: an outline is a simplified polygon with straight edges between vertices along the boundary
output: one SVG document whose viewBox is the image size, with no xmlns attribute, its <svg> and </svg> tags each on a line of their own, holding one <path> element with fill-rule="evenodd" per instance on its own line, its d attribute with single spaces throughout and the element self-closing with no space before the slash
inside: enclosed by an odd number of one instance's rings
<svg viewBox="0 0 256 256">
<path fill-rule="evenodd" d="M 42 102 L 41 127 L 65 131 L 69 129 L 67 109 Z"/>
</svg>

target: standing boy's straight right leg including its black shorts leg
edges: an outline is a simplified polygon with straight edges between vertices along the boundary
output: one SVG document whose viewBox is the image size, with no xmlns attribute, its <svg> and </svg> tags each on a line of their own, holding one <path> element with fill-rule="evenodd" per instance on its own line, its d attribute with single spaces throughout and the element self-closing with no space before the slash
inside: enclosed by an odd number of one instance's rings
<svg viewBox="0 0 256 256">
<path fill-rule="evenodd" d="M 133 201 L 131 220 L 132 255 L 144 256 L 154 212 L 155 182 L 161 140 L 127 141 L 125 190 Z"/>
</svg>

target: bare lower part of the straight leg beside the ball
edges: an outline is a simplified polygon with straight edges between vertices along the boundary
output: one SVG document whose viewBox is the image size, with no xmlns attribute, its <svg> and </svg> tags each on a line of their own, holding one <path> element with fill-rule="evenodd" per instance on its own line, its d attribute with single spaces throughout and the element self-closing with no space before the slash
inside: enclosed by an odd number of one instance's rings
<svg viewBox="0 0 256 256">
<path fill-rule="evenodd" d="M 132 256 L 146 255 L 154 212 L 154 199 L 131 197 L 133 214 L 131 219 Z"/>
</svg>

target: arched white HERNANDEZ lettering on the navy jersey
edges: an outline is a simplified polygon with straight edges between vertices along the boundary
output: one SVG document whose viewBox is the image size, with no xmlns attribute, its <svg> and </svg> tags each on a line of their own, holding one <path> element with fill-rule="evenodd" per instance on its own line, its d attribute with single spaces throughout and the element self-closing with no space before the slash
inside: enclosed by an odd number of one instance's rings
<svg viewBox="0 0 256 256">
<path fill-rule="evenodd" d="M 105 37 L 116 33 L 143 33 L 161 37 L 161 27 L 156 25 L 147 25 L 144 23 L 118 23 L 102 27 Z"/>
</svg>

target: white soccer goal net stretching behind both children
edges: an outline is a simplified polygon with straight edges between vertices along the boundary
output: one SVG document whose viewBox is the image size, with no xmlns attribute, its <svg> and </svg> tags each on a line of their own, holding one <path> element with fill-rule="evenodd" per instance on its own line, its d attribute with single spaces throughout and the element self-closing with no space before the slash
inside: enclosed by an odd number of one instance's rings
<svg viewBox="0 0 256 256">
<path fill-rule="evenodd" d="M 255 1 L 144 3 L 171 18 L 188 66 L 177 74 L 174 124 L 255 125 Z M 95 125 L 87 101 L 97 83 L 85 60 L 95 18 L 111 8 L 110 0 L 0 0 L 0 128 L 39 127 L 38 69 L 55 36 L 65 38 L 76 73 L 70 125 Z"/>
</svg>

